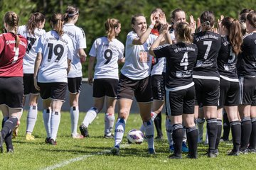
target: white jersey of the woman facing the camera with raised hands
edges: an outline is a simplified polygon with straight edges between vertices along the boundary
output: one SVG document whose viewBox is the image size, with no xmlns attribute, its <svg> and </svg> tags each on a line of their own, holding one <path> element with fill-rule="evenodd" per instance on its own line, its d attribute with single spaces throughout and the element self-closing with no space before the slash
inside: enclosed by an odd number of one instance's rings
<svg viewBox="0 0 256 170">
<path fill-rule="evenodd" d="M 125 62 L 121 72 L 129 79 L 139 80 L 149 77 L 152 64 L 149 48 L 157 37 L 150 34 L 143 45 L 133 45 L 134 38 L 138 38 L 137 33 L 134 31 L 129 32 L 125 46 Z"/>
</svg>

